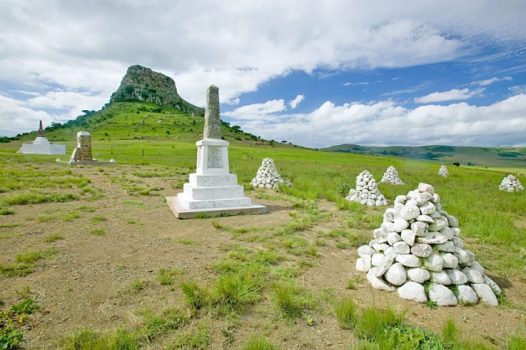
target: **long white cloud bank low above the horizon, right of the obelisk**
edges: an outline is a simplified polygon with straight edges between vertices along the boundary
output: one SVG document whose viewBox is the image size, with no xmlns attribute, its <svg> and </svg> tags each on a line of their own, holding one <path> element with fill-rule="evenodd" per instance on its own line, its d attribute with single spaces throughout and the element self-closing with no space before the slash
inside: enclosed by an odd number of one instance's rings
<svg viewBox="0 0 526 350">
<path fill-rule="evenodd" d="M 362 145 L 525 145 L 526 94 L 488 106 L 465 102 L 407 109 L 395 102 L 327 101 L 306 114 L 245 116 L 244 130 L 267 139 L 327 147 Z"/>
</svg>

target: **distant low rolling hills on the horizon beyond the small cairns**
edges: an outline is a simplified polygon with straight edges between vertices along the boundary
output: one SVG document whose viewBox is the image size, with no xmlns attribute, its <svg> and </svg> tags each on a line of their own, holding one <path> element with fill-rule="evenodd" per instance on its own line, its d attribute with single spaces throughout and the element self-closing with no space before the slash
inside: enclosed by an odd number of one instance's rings
<svg viewBox="0 0 526 350">
<path fill-rule="evenodd" d="M 323 149 L 331 152 L 396 156 L 470 166 L 526 168 L 526 147 L 459 147 L 459 146 L 359 146 L 343 144 Z"/>
</svg>

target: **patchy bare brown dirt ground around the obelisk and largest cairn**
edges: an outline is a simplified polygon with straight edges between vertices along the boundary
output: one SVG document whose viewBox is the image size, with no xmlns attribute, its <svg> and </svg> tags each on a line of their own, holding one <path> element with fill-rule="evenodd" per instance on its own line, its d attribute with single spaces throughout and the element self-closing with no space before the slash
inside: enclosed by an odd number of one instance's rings
<svg viewBox="0 0 526 350">
<path fill-rule="evenodd" d="M 58 167 L 42 164 L 40 168 Z M 237 240 L 213 223 L 228 227 L 250 227 L 270 230 L 292 220 L 292 201 L 268 192 L 257 202 L 268 205 L 270 212 L 259 216 L 235 216 L 178 220 L 165 203 L 165 195 L 174 195 L 184 180 L 181 177 L 142 178 L 143 184 L 157 189 L 158 195 L 130 196 L 122 183 L 112 180 L 130 171 L 116 166 L 101 171 L 98 167 L 73 169 L 91 180 L 102 197 L 93 201 L 72 201 L 15 206 L 15 215 L 0 216 L 0 263 L 10 263 L 20 251 L 53 248 L 56 254 L 37 263 L 35 271 L 25 277 L 0 275 L 0 300 L 6 305 L 16 302 L 20 291 L 29 288 L 42 310 L 32 316 L 26 331 L 25 346 L 55 348 L 62 337 L 82 329 L 109 331 L 135 327 L 143 310 L 162 310 L 167 306 L 185 308 L 178 287 L 191 278 L 207 284 L 213 278 L 211 266 L 235 244 L 257 245 Z M 250 192 L 254 196 L 254 192 Z M 302 235 L 314 241 L 320 232 L 345 227 L 346 213 L 332 203 L 320 202 L 328 218 L 317 222 Z M 78 217 L 66 219 L 71 212 Z M 46 214 L 48 219 L 39 219 Z M 367 232 L 365 232 L 367 234 Z M 47 237 L 62 239 L 50 242 Z M 263 300 L 240 316 L 233 335 L 226 335 L 227 320 L 204 315 L 185 329 L 206 322 L 211 332 L 212 349 L 239 348 L 254 334 L 263 334 L 283 349 L 347 349 L 354 342 L 352 332 L 341 330 L 333 315 L 330 301 L 351 297 L 361 306 L 394 306 L 404 311 L 410 324 L 440 331 L 447 318 L 457 321 L 463 335 L 482 337 L 496 347 L 523 326 L 526 321 L 526 285 L 520 280 L 502 280 L 507 303 L 499 307 L 476 305 L 431 309 L 406 302 L 396 293 L 376 291 L 369 287 L 362 273 L 355 271 L 355 247 L 337 247 L 326 239 L 317 247 L 310 265 L 297 277 L 298 283 L 319 297 L 320 307 L 312 311 L 314 324 L 304 320 L 290 321 L 280 317 L 270 298 Z M 475 250 L 476 253 L 476 250 Z M 484 264 L 483 261 L 481 261 Z M 161 285 L 161 269 L 175 272 L 173 285 Z M 491 271 L 490 271 L 491 275 Z M 349 280 L 355 289 L 347 289 Z M 143 287 L 133 290 L 135 282 Z M 184 331 L 183 330 L 178 330 Z M 233 337 L 233 339 L 228 339 Z M 164 348 L 169 335 L 151 345 Z"/>
</svg>

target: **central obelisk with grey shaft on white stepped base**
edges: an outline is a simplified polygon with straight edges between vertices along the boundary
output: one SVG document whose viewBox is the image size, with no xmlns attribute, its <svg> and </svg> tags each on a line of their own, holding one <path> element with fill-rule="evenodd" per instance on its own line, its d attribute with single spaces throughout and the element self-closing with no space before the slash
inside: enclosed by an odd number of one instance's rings
<svg viewBox="0 0 526 350">
<path fill-rule="evenodd" d="M 237 184 L 237 176 L 229 173 L 228 142 L 221 139 L 219 89 L 214 85 L 207 90 L 203 139 L 196 145 L 196 172 L 190 174 L 183 192 L 166 198 L 176 217 L 267 212 L 265 206 L 253 204 L 245 197 L 243 186 Z"/>
</svg>

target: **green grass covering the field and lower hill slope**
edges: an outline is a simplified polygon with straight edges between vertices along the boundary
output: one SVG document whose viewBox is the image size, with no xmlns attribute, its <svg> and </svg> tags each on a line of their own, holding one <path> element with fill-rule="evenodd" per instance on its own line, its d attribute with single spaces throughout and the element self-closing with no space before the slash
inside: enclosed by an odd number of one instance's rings
<svg viewBox="0 0 526 350">
<path fill-rule="evenodd" d="M 65 140 L 70 153 L 75 132 L 86 128 L 93 133 L 94 157 L 100 160 L 113 158 L 118 165 L 124 166 L 120 175 L 106 174 L 108 171 L 104 169 L 98 171 L 107 176 L 111 183 L 126 190 L 124 198 L 129 197 L 125 202 L 127 205 L 141 207 L 143 204 L 137 198 L 158 195 L 162 191 L 155 188 L 145 190 L 146 185 L 141 179 L 169 178 L 173 180 L 173 189 L 170 191 L 174 193 L 182 188 L 182 181 L 195 169 L 194 142 L 200 138 L 202 118 L 188 117 L 170 110 L 159 111 L 151 105 L 117 104 L 98 112 L 84 125 L 56 128 L 48 134 L 50 139 Z M 385 169 L 394 165 L 406 184 L 380 184 L 380 191 L 387 199 L 392 201 L 396 195 L 414 189 L 419 182 L 432 184 L 442 198 L 444 209 L 459 218 L 461 234 L 477 254 L 477 259 L 501 279 L 526 282 L 526 194 L 498 190 L 507 172 L 520 174 L 522 182 L 526 182 L 524 169 L 450 166 L 449 177 L 442 178 L 437 175 L 438 165 L 432 162 L 315 151 L 257 140 L 252 135 L 226 125 L 223 130 L 225 139 L 232 141 L 230 167 L 231 172 L 238 175 L 239 183 L 245 186 L 249 195 L 256 198 L 270 196 L 293 203 L 296 211 L 290 214 L 290 221 L 281 226 L 258 229 L 228 226 L 217 219 L 212 223 L 214 228 L 231 235 L 235 245 L 225 249 L 209 267 L 213 278 L 199 283 L 187 280 L 179 287 L 173 281 L 179 278 L 180 272 L 161 269 L 153 280 L 145 282 L 148 276 L 139 276 L 126 290 L 126 293 L 141 295 L 154 283 L 160 283 L 163 288 L 181 288 L 189 314 L 178 309 L 184 305 L 178 305 L 177 309 L 167 309 L 159 314 L 144 314 L 141 316 L 141 326 L 132 329 L 119 329 L 110 333 L 81 330 L 67 336 L 61 343 L 62 348 L 160 348 L 160 343 L 156 343 L 158 339 L 169 337 L 171 332 L 184 328 L 184 332 L 177 333 L 171 340 L 169 348 L 204 349 L 214 344 L 215 326 L 211 324 L 217 318 L 226 318 L 228 326 L 234 329 L 240 327 L 239 322 L 243 317 L 260 317 L 270 323 L 279 319 L 285 327 L 297 327 L 299 322 L 308 330 L 316 326 L 317 318 L 326 316 L 340 328 L 352 332 L 356 339 L 354 344 L 360 349 L 493 348 L 495 344 L 492 345 L 487 339 L 482 343 L 468 342 L 457 334 L 454 324 L 445 324 L 442 333 L 431 332 L 427 328 L 410 325 L 410 322 L 404 321 L 403 315 L 390 309 L 380 310 L 373 305 L 358 307 L 352 300 L 345 298 L 329 302 L 327 300 L 334 298 L 305 289 L 301 276 L 316 264 L 319 250 L 328 249 L 326 246 L 330 240 L 336 240 L 335 247 L 331 249 L 354 251 L 357 245 L 372 237 L 372 229 L 380 225 L 385 208 L 372 209 L 350 204 L 340 189 L 353 187 L 355 177 L 364 169 L 368 169 L 379 180 Z M 4 213 L 0 216 L 0 222 L 6 230 L 15 228 L 14 234 L 2 233 L 0 238 L 8 240 L 17 237 L 16 226 L 23 225 L 17 218 L 28 205 L 42 206 L 42 213 L 38 216 L 42 225 L 53 225 L 58 221 L 74 223 L 97 210 L 97 215 L 89 219 L 90 226 L 94 226 L 90 227 L 90 237 L 105 239 L 111 236 L 112 226 L 101 225 L 106 225 L 107 218 L 113 214 L 97 207 L 97 201 L 106 194 L 87 175 L 82 174 L 83 170 L 90 167 L 72 172 L 65 163 L 55 163 L 56 158 L 67 161 L 69 154 L 59 157 L 17 154 L 21 142 L 32 137 L 34 135 L 30 134 L 17 141 L 0 144 L 0 209 Z M 269 195 L 249 187 L 264 157 L 274 159 L 281 174 L 292 182 L 290 188 L 283 187 L 280 193 Z M 54 170 L 46 172 L 39 168 L 39 165 L 45 164 L 53 164 Z M 93 167 L 93 170 L 96 168 Z M 67 215 L 45 211 L 48 203 L 68 201 L 76 201 L 75 207 L 78 209 Z M 323 232 L 316 229 L 317 236 L 313 239 L 304 233 L 310 232 L 316 225 L 330 225 L 331 220 L 336 222 L 334 216 L 318 209 L 321 201 L 332 203 L 339 212 L 338 224 L 343 222 L 346 226 Z M 83 205 L 79 207 L 78 202 Z M 140 221 L 140 218 L 129 219 L 128 224 L 136 224 L 137 220 Z M 61 244 L 67 239 L 64 234 L 53 233 L 46 236 L 44 242 Z M 177 243 L 189 250 L 199 246 L 193 238 L 180 239 Z M 0 266 L 3 269 L 0 283 L 8 278 L 25 278 L 23 276 L 41 268 L 41 261 L 51 259 L 56 254 L 60 256 L 60 251 L 56 250 L 18 250 L 21 253 L 16 257 L 16 262 Z M 353 265 L 354 261 L 347 263 Z M 350 281 L 348 289 L 366 283 Z M 319 303 L 325 303 L 326 311 L 320 311 L 316 306 Z M 278 311 L 267 314 L 265 307 Z M 504 303 L 502 307 L 524 316 L 523 305 Z M 0 319 L 0 326 L 2 322 L 11 322 L 9 329 L 0 328 L 0 339 L 2 329 L 12 331 L 9 334 L 16 337 L 19 337 L 17 332 L 23 329 L 10 321 L 14 317 L 10 315 L 15 315 L 10 312 L 5 311 L 3 319 Z M 460 307 L 458 312 L 462 312 Z M 227 339 L 228 329 L 221 328 Z M 517 334 L 504 335 L 506 340 L 499 340 L 497 346 L 520 349 L 525 344 L 524 333 L 521 333 L 524 329 L 519 328 L 517 331 Z M 270 336 L 272 333 L 265 334 Z M 478 336 L 484 338 L 483 334 Z M 279 347 L 265 337 L 254 335 L 238 348 Z"/>
</svg>

